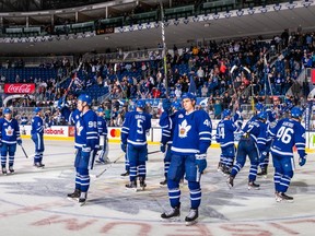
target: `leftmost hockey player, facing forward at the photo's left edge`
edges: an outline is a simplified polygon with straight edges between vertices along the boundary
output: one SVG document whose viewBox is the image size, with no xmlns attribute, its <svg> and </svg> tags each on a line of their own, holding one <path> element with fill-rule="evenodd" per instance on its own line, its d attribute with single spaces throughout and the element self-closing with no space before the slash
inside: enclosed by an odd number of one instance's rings
<svg viewBox="0 0 315 236">
<path fill-rule="evenodd" d="M 4 108 L 4 118 L 0 119 L 0 146 L 2 174 L 7 175 L 7 155 L 9 153 L 9 172 L 14 173 L 14 155 L 16 143 L 22 145 L 20 128 L 16 119 L 12 118 L 12 110 Z"/>
</svg>

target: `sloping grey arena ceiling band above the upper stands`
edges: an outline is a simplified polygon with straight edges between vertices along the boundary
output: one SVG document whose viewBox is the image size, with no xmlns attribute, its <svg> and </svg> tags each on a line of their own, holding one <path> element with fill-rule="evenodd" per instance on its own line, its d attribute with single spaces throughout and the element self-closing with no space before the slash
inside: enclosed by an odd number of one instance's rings
<svg viewBox="0 0 315 236">
<path fill-rule="evenodd" d="M 229 16 L 226 13 L 220 13 L 220 17 L 214 20 L 213 14 L 200 15 L 198 22 L 189 19 L 187 24 L 174 24 L 170 21 L 165 27 L 166 46 L 173 48 L 173 45 L 184 46 L 196 44 L 197 42 L 207 42 L 213 39 L 224 38 L 240 38 L 245 36 L 258 35 L 280 35 L 284 28 L 290 32 L 296 32 L 298 28 L 303 32 L 311 32 L 315 30 L 314 15 L 315 4 L 308 8 L 294 8 L 292 10 L 276 11 L 270 9 L 266 13 L 249 14 L 244 10 L 242 16 L 231 11 Z M 256 11 L 262 11 L 256 9 Z M 241 14 L 241 13 L 240 13 Z M 2 55 L 69 55 L 69 54 L 84 54 L 89 51 L 104 52 L 107 48 L 154 48 L 159 43 L 162 43 L 161 26 L 154 26 L 147 30 L 144 26 L 139 31 L 136 26 L 132 32 L 128 26 L 124 28 L 124 33 L 115 30 L 114 34 L 95 35 L 88 33 L 84 38 L 72 39 L 71 37 L 66 40 L 63 38 L 51 42 L 30 42 L 30 43 L 2 43 L 0 44 Z"/>
</svg>

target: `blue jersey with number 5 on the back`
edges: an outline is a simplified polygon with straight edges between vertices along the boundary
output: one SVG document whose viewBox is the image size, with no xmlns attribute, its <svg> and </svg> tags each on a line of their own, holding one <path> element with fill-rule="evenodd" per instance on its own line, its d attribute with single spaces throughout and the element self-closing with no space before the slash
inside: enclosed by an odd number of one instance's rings
<svg viewBox="0 0 315 236">
<path fill-rule="evenodd" d="M 141 111 L 126 114 L 121 128 L 121 142 L 147 145 L 147 131 L 151 129 L 151 115 Z"/>
</svg>

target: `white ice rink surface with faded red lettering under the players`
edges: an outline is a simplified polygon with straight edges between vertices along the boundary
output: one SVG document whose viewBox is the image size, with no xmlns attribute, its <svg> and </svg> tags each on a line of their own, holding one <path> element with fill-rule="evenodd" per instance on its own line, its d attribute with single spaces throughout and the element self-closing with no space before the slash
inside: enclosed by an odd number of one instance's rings
<svg viewBox="0 0 315 236">
<path fill-rule="evenodd" d="M 220 150 L 210 148 L 208 168 L 201 179 L 199 223 L 185 226 L 189 211 L 187 182 L 182 187 L 182 222 L 160 220 L 161 213 L 170 209 L 167 188 L 159 185 L 164 178 L 162 153 L 149 155 L 148 187 L 145 191 L 133 192 L 125 189 L 129 178 L 120 177 L 125 172 L 120 145 L 110 143 L 108 157 L 112 162 L 120 158 L 115 164 L 95 166 L 88 203 L 80 206 L 66 197 L 74 188 L 73 142 L 45 141 L 44 169 L 33 167 L 31 140 L 24 139 L 23 146 L 30 158 L 18 146 L 15 174 L 0 176 L 1 235 L 314 235 L 314 154 L 308 154 L 305 166 L 296 164 L 288 191 L 294 203 L 277 203 L 272 168 L 266 179 L 257 179 L 260 190 L 248 191 L 246 163 L 230 190 L 226 177 L 217 172 Z M 156 150 L 158 145 L 149 146 L 149 152 Z"/>
</svg>

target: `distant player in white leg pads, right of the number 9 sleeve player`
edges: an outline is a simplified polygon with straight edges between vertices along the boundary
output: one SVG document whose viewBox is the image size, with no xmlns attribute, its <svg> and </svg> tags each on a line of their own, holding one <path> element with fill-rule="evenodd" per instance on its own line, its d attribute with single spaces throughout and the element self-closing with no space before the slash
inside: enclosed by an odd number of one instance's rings
<svg viewBox="0 0 315 236">
<path fill-rule="evenodd" d="M 107 143 L 107 125 L 104 119 L 104 109 L 98 107 L 97 111 L 97 130 L 100 135 L 100 151 L 97 154 L 97 158 L 95 162 L 98 164 L 108 164 L 109 158 L 107 157 L 108 154 L 108 143 Z"/>
</svg>

